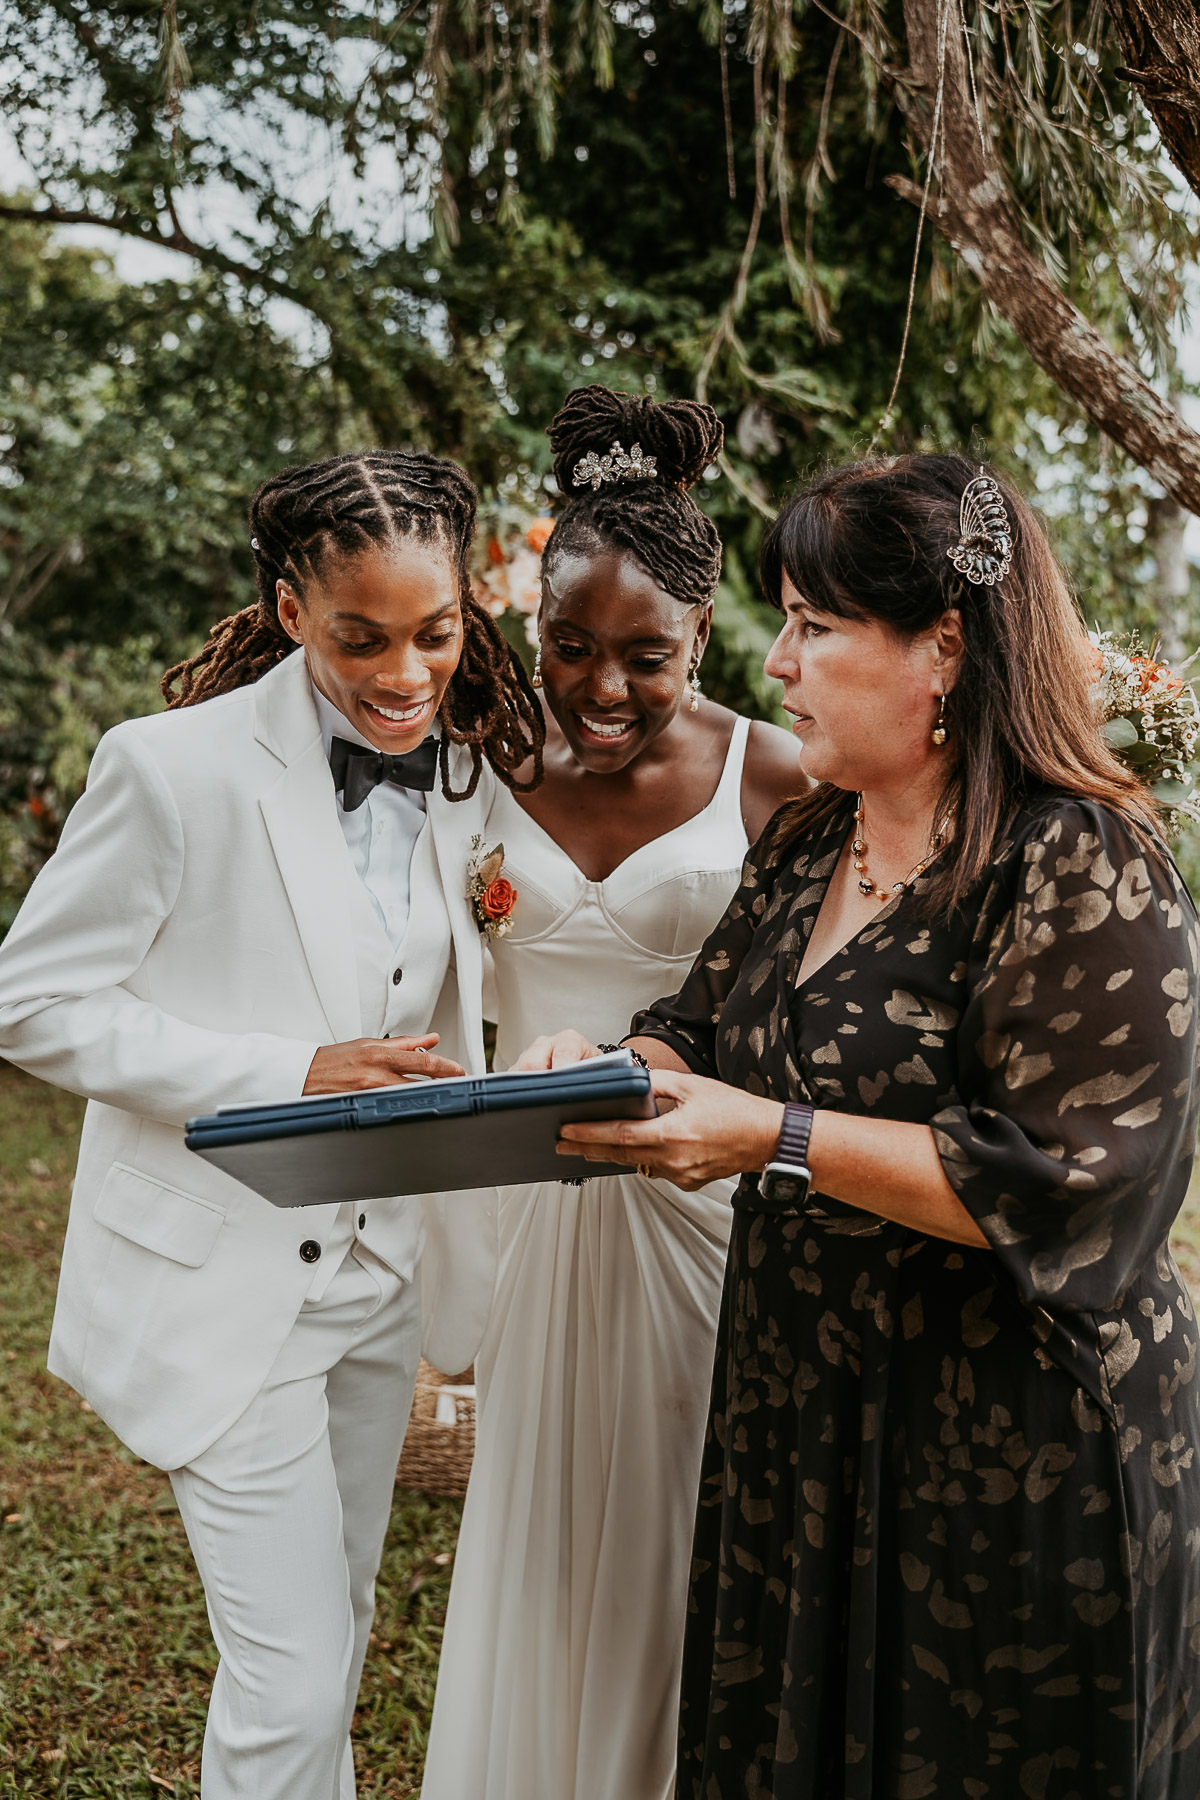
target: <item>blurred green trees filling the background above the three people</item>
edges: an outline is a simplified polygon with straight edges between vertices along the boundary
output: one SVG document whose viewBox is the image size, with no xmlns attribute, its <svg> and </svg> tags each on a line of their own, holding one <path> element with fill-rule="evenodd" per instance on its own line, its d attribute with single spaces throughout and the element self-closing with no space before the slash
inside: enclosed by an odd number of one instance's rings
<svg viewBox="0 0 1200 1800">
<path fill-rule="evenodd" d="M 533 515 L 572 385 L 700 387 L 729 436 L 702 490 L 727 542 L 705 686 L 770 713 L 763 517 L 867 448 L 914 266 L 880 446 L 995 457 L 1088 623 L 1193 646 L 1184 509 L 932 227 L 914 265 L 889 178 L 925 171 L 896 77 L 921 4 L 7 0 L 0 931 L 99 733 L 252 598 L 245 506 L 284 463 L 428 445 L 495 517 Z M 1186 403 L 1195 205 L 1112 18 L 968 14 L 1027 241 Z"/>
</svg>

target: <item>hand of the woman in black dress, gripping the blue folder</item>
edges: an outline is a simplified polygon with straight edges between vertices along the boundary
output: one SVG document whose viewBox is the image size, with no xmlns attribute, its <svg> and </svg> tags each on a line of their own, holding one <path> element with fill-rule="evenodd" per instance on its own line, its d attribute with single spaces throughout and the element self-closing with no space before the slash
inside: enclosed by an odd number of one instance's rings
<svg viewBox="0 0 1200 1800">
<path fill-rule="evenodd" d="M 770 1163 L 783 1125 L 781 1102 L 675 1069 L 651 1069 L 649 1080 L 657 1120 L 563 1125 L 558 1154 L 630 1163 L 685 1190 Z"/>
</svg>

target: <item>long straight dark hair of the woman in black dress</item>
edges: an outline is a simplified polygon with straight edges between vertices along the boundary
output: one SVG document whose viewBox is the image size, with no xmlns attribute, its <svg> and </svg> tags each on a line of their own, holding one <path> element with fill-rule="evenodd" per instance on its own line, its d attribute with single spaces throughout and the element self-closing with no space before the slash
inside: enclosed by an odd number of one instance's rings
<svg viewBox="0 0 1200 1800">
<path fill-rule="evenodd" d="M 793 495 L 763 540 L 759 572 L 774 607 L 783 578 L 820 612 L 874 619 L 901 637 L 957 607 L 964 655 L 946 695 L 948 760 L 941 806 L 954 805 L 948 857 L 930 878 L 930 913 L 954 909 L 993 860 L 1016 812 L 1043 792 L 1121 814 L 1162 851 L 1142 785 L 1112 754 L 1096 716 L 1083 621 L 1033 508 L 991 468 L 1004 493 L 1011 569 L 975 587 L 946 554 L 981 464 L 901 455 L 833 468 Z M 824 823 L 846 796 L 829 783 L 777 814 L 775 842 Z"/>
</svg>

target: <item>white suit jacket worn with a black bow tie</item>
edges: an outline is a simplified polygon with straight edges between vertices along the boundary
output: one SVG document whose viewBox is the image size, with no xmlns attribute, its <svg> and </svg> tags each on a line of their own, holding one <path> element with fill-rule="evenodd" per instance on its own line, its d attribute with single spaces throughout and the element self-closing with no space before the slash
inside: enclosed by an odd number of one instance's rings
<svg viewBox="0 0 1200 1800">
<path fill-rule="evenodd" d="M 432 1028 L 470 1073 L 484 1048 L 466 864 L 493 779 L 470 801 L 428 796 L 428 902 L 450 911 L 457 965 Z M 347 871 L 297 652 L 250 688 L 110 731 L 0 947 L 0 1055 L 90 1102 L 49 1366 L 166 1469 L 254 1399 L 313 1278 L 300 1244 L 324 1246 L 336 1217 L 272 1206 L 193 1156 L 182 1127 L 297 1096 L 320 1044 L 363 1035 Z M 491 1301 L 495 1193 L 425 1206 L 425 1350 L 457 1372 Z M 381 1202 L 383 1253 L 387 1220 Z"/>
</svg>

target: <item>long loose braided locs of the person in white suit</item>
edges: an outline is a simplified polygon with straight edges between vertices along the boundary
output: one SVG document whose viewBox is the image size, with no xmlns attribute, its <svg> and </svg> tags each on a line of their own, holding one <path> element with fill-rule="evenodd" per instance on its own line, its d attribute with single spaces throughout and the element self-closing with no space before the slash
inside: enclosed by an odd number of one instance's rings
<svg viewBox="0 0 1200 1800">
<path fill-rule="evenodd" d="M 471 599 L 466 558 L 473 535 L 475 488 L 457 463 L 407 450 L 362 450 L 281 470 L 250 500 L 259 598 L 214 625 L 198 655 L 167 670 L 167 706 L 198 706 L 245 688 L 291 653 L 295 644 L 279 623 L 279 580 L 304 599 L 308 581 L 320 580 L 335 558 L 412 536 L 441 542 L 452 554 L 462 605 L 462 657 L 437 715 L 443 794 L 470 799 L 484 756 L 506 787 L 529 792 L 542 779 L 545 720 L 495 619 Z M 471 751 L 471 776 L 461 794 L 450 788 L 452 743 Z M 531 778 L 520 783 L 516 770 L 529 758 Z"/>
</svg>

